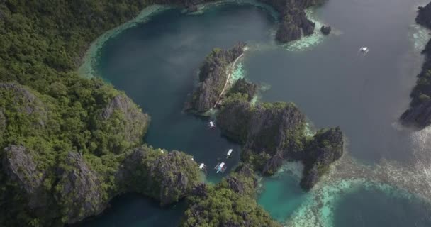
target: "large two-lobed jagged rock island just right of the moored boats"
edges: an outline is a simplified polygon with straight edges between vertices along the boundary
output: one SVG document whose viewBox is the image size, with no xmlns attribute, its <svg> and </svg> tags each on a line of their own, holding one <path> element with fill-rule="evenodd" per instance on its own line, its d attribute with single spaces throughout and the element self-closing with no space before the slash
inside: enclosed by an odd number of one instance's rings
<svg viewBox="0 0 431 227">
<path fill-rule="evenodd" d="M 284 160 L 299 160 L 306 166 L 301 187 L 311 189 L 329 165 L 343 152 L 340 128 L 304 135 L 306 116 L 294 104 L 252 106 L 242 96 L 233 96 L 217 118 L 224 135 L 243 144 L 242 160 L 254 170 L 272 175 Z"/>
</svg>

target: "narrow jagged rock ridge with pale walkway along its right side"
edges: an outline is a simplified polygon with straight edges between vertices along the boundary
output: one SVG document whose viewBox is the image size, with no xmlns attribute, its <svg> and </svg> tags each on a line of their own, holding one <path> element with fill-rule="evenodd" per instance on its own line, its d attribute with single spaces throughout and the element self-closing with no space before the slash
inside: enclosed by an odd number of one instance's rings
<svg viewBox="0 0 431 227">
<path fill-rule="evenodd" d="M 231 65 L 242 55 L 244 48 L 245 43 L 238 43 L 229 50 L 214 48 L 206 56 L 199 71 L 199 85 L 184 109 L 203 114 L 216 104 L 229 74 L 232 73 Z"/>
</svg>

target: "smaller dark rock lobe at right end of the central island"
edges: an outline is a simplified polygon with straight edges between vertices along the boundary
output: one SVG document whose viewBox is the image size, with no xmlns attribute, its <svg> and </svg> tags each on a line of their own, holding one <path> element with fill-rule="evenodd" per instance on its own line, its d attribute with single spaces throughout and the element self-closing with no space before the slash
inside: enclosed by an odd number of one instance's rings
<svg viewBox="0 0 431 227">
<path fill-rule="evenodd" d="M 343 138 L 339 127 L 323 129 L 308 142 L 303 158 L 304 170 L 301 179 L 303 189 L 311 189 L 328 171 L 330 164 L 338 160 L 343 153 Z"/>
</svg>

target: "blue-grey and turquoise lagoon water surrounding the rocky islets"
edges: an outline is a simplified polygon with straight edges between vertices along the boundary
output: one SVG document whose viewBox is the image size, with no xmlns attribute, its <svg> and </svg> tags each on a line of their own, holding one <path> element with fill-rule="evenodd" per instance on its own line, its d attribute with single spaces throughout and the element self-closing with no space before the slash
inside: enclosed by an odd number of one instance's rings
<svg viewBox="0 0 431 227">
<path fill-rule="evenodd" d="M 428 37 L 414 26 L 418 4 L 330 0 L 309 13 L 319 24 L 330 24 L 332 35 L 316 33 L 291 45 L 274 43 L 276 20 L 262 7 L 215 4 L 193 15 L 164 9 L 106 39 L 94 52 L 94 73 L 124 90 L 152 116 L 146 143 L 194 155 L 197 162 L 208 165 L 207 181 L 218 182 L 222 175 L 211 171 L 213 165 L 233 148 L 235 155 L 227 162 L 228 171 L 232 170 L 240 160 L 240 146 L 217 129 L 209 130 L 211 117 L 185 114 L 182 107 L 211 48 L 246 41 L 250 50 L 239 64 L 237 77 L 265 88 L 258 100 L 293 101 L 314 126 L 341 126 L 347 155 L 358 162 L 344 169 L 341 163 L 333 171 L 338 175 L 308 193 L 298 187 L 300 176 L 295 171 L 264 178 L 259 204 L 288 226 L 431 226 L 431 209 L 422 201 L 349 183 L 358 177 L 360 171 L 354 170 L 359 170 L 360 163 L 372 169 L 382 159 L 396 161 L 379 169 L 391 174 L 382 177 L 375 171 L 372 175 L 395 187 L 409 184 L 411 176 L 401 171 L 402 165 L 418 166 L 414 170 L 418 182 L 422 171 L 431 167 L 431 162 L 420 158 L 430 147 L 430 133 L 413 133 L 397 123 L 408 106 L 408 94 L 420 70 L 420 47 Z M 362 45 L 370 48 L 366 56 L 357 51 Z M 417 192 L 426 195 L 425 191 L 420 187 Z M 185 208 L 184 202 L 160 209 L 142 196 L 119 196 L 104 214 L 80 226 L 177 226 Z"/>
</svg>

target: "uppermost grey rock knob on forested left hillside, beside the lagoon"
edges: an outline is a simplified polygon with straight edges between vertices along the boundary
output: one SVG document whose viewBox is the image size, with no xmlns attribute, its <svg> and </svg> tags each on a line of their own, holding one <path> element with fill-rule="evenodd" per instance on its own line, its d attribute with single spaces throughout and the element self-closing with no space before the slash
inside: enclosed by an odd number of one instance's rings
<svg viewBox="0 0 431 227">
<path fill-rule="evenodd" d="M 123 136 L 123 140 L 132 144 L 140 142 L 150 125 L 150 116 L 143 113 L 124 94 L 114 96 L 108 106 L 101 112 L 101 118 L 106 123 L 109 123 L 109 120 L 114 116 L 123 121 L 121 128 L 118 128 L 118 134 Z"/>
</svg>

